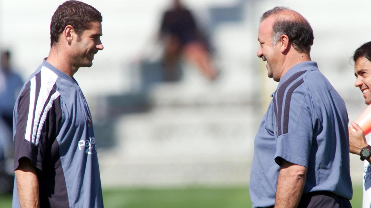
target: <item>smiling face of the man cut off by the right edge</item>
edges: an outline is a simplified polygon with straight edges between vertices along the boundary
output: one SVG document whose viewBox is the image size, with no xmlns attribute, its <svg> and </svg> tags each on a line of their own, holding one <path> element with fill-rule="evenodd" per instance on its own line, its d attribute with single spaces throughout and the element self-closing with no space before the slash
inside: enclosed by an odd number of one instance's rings
<svg viewBox="0 0 371 208">
<path fill-rule="evenodd" d="M 354 86 L 359 88 L 365 98 L 365 103 L 371 103 L 371 61 L 360 57 L 354 64 L 354 75 L 357 77 Z"/>
</svg>

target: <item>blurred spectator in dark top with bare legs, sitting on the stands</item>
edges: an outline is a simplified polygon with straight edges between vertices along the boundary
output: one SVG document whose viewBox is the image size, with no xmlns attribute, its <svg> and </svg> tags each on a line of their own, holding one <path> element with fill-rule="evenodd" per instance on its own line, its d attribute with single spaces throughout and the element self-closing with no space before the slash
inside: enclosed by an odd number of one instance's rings
<svg viewBox="0 0 371 208">
<path fill-rule="evenodd" d="M 200 67 L 203 74 L 213 80 L 217 70 L 211 62 L 207 44 L 203 40 L 196 20 L 180 0 L 173 0 L 171 9 L 162 17 L 160 38 L 164 41 L 165 79 L 176 80 L 177 63 L 184 56 Z"/>
</svg>

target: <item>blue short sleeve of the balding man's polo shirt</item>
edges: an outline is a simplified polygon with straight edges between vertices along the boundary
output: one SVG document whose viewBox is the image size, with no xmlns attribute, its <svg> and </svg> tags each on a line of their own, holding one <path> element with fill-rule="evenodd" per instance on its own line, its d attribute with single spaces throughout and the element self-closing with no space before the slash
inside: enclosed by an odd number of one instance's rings
<svg viewBox="0 0 371 208">
<path fill-rule="evenodd" d="M 286 160 L 308 168 L 313 138 L 312 101 L 308 93 L 299 90 L 290 96 L 282 111 L 282 134 L 276 138 L 275 162 L 281 165 Z"/>
</svg>

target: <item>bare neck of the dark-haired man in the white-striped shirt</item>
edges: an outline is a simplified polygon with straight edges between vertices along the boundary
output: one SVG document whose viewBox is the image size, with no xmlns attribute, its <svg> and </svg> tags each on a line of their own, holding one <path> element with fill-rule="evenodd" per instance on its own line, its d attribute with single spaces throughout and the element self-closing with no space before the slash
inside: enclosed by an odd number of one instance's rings
<svg viewBox="0 0 371 208">
<path fill-rule="evenodd" d="M 63 52 L 63 49 L 56 46 L 52 46 L 46 61 L 71 78 L 78 70 L 77 67 L 72 66 L 69 62 L 68 53 Z"/>
</svg>

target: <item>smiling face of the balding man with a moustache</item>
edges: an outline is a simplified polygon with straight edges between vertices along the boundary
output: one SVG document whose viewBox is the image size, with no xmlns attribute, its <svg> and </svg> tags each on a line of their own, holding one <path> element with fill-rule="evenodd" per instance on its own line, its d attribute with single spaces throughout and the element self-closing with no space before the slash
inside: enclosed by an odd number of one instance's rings
<svg viewBox="0 0 371 208">
<path fill-rule="evenodd" d="M 279 82 L 282 73 L 282 66 L 279 62 L 279 44 L 274 45 L 272 41 L 272 26 L 274 21 L 275 19 L 273 17 L 268 17 L 260 23 L 258 35 L 260 46 L 256 55 L 262 58 L 263 61 L 267 62 L 266 67 L 268 70 L 268 77 Z"/>
</svg>

